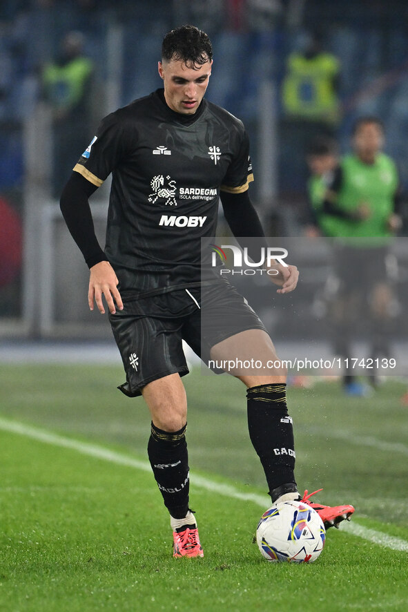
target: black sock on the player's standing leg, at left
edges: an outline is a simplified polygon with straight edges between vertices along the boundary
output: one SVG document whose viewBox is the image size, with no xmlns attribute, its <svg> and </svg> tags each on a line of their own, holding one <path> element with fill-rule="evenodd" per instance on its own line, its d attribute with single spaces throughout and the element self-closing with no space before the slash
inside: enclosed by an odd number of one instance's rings
<svg viewBox="0 0 408 612">
<path fill-rule="evenodd" d="M 178 432 L 165 432 L 152 423 L 148 441 L 148 458 L 164 499 L 164 505 L 175 519 L 188 513 L 188 454 L 186 427 Z"/>
</svg>

